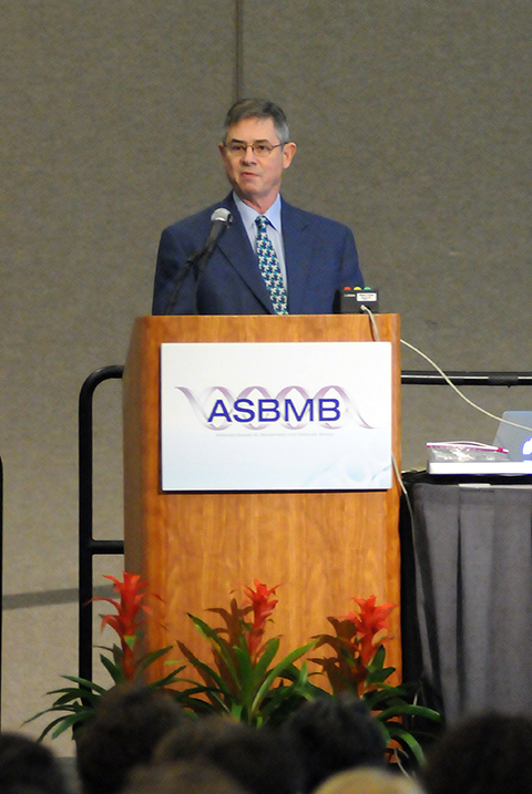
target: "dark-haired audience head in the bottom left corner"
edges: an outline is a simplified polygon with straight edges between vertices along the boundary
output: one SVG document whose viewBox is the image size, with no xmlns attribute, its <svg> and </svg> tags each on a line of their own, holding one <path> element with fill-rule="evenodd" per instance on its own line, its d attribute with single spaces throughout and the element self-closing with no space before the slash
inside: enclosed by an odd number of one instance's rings
<svg viewBox="0 0 532 794">
<path fill-rule="evenodd" d="M 2 794 L 65 794 L 58 759 L 44 744 L 20 733 L 0 734 Z"/>
</svg>

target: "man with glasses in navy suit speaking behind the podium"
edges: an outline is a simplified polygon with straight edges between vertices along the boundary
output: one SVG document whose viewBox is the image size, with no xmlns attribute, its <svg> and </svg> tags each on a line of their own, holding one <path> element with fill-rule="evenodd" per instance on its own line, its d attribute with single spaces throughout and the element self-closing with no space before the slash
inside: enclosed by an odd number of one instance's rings
<svg viewBox="0 0 532 794">
<path fill-rule="evenodd" d="M 232 192 L 164 229 L 154 314 L 329 314 L 364 287 L 351 230 L 280 196 L 296 153 L 280 107 L 239 100 L 218 148 Z"/>
</svg>

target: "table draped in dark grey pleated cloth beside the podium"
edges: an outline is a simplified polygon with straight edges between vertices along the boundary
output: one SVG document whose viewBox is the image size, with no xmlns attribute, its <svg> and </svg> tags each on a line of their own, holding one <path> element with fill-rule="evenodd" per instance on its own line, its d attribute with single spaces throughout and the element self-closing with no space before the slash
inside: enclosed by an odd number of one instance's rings
<svg viewBox="0 0 532 794">
<path fill-rule="evenodd" d="M 422 672 L 448 723 L 485 709 L 532 716 L 531 478 L 442 482 L 424 474 L 408 491 L 415 520 L 412 532 L 403 506 L 405 679 Z"/>
</svg>

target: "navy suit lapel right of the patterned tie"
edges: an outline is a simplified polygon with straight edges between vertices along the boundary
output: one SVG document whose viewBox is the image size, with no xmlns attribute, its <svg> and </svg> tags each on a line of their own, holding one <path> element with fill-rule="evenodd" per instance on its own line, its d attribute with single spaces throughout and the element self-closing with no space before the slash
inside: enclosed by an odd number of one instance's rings
<svg viewBox="0 0 532 794">
<path fill-rule="evenodd" d="M 282 204 L 283 243 L 288 279 L 288 311 L 301 314 L 305 306 L 305 290 L 311 262 L 311 239 L 306 216 L 296 207 Z"/>
</svg>

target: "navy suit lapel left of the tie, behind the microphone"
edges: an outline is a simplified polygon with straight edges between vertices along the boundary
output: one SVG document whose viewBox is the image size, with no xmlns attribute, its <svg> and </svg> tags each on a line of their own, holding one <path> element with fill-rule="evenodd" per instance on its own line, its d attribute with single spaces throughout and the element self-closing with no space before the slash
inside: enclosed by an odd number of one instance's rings
<svg viewBox="0 0 532 794">
<path fill-rule="evenodd" d="M 218 241 L 218 248 L 238 272 L 266 311 L 274 313 L 267 287 L 258 269 L 257 256 L 253 250 L 238 208 L 229 194 L 223 205 L 231 212 L 232 225 Z"/>
</svg>

